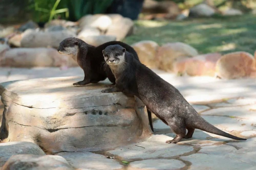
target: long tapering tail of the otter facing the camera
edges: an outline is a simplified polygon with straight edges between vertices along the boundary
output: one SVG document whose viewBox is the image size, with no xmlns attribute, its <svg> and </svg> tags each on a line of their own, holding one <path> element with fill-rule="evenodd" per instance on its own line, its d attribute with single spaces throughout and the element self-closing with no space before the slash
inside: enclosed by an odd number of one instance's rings
<svg viewBox="0 0 256 170">
<path fill-rule="evenodd" d="M 205 132 L 209 132 L 209 133 L 213 133 L 213 134 L 216 134 L 216 135 L 228 137 L 228 138 L 231 138 L 231 139 L 246 140 L 244 138 L 239 138 L 239 137 L 230 135 L 226 132 L 223 132 L 222 130 L 218 129 L 217 127 L 211 125 L 209 122 L 204 120 L 201 116 L 199 116 L 198 118 L 199 118 L 199 121 L 193 122 L 196 129 L 200 129 L 200 130 L 203 130 Z"/>
</svg>

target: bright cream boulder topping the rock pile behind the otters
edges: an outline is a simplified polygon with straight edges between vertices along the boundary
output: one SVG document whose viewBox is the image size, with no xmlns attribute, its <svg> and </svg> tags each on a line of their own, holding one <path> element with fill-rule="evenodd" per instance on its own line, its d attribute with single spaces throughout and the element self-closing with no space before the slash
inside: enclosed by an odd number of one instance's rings
<svg viewBox="0 0 256 170">
<path fill-rule="evenodd" d="M 105 32 L 112 24 L 112 20 L 108 15 L 95 14 L 83 16 L 78 23 L 81 28 L 92 27 Z"/>
</svg>

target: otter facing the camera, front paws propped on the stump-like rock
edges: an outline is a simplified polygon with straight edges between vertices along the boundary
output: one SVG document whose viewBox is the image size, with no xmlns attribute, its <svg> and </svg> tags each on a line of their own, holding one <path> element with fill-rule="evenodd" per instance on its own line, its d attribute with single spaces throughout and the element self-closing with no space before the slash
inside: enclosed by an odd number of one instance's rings
<svg viewBox="0 0 256 170">
<path fill-rule="evenodd" d="M 176 134 L 173 140 L 167 140 L 166 143 L 177 143 L 182 138 L 191 138 L 195 129 L 246 140 L 223 132 L 204 120 L 174 86 L 135 60 L 133 54 L 121 45 L 110 45 L 102 53 L 116 78 L 115 86 L 102 92 L 122 91 L 141 99 L 147 109 Z"/>
</svg>

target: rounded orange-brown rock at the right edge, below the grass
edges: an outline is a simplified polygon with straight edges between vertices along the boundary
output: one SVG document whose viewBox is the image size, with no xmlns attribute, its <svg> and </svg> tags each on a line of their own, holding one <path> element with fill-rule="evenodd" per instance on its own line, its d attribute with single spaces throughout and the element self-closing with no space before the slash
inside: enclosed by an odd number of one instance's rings
<svg viewBox="0 0 256 170">
<path fill-rule="evenodd" d="M 255 58 L 247 52 L 239 51 L 222 56 L 216 64 L 217 76 L 224 79 L 256 77 Z"/>
</svg>

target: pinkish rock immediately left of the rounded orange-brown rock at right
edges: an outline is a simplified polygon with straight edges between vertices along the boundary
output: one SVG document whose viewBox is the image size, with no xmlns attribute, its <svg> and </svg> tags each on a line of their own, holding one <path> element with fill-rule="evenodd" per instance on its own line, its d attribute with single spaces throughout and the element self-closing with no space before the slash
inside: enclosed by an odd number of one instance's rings
<svg viewBox="0 0 256 170">
<path fill-rule="evenodd" d="M 174 63 L 174 72 L 190 76 L 214 76 L 216 62 L 221 57 L 220 53 L 210 53 L 192 58 L 185 58 Z"/>
</svg>

